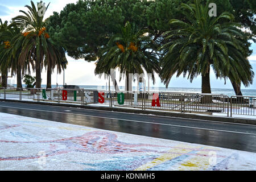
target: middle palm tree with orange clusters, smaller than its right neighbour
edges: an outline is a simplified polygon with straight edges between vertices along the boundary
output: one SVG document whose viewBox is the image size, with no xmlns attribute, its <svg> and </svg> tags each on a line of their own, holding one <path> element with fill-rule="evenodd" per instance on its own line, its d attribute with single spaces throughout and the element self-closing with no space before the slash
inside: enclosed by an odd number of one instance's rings
<svg viewBox="0 0 256 182">
<path fill-rule="evenodd" d="M 121 32 L 114 35 L 106 48 L 100 51 L 95 73 L 110 73 L 110 69 L 119 68 L 126 76 L 126 90 L 129 88 L 129 73 L 160 72 L 159 62 L 154 53 L 154 42 L 147 36 L 147 30 L 139 30 L 127 22 Z M 154 74 L 152 79 L 155 81 Z"/>
</svg>

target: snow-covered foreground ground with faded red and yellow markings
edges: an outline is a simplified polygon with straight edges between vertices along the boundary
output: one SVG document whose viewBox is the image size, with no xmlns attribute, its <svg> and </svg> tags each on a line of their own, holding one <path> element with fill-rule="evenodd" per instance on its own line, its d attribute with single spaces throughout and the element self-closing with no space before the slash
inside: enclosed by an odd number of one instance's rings
<svg viewBox="0 0 256 182">
<path fill-rule="evenodd" d="M 1 170 L 256 170 L 256 153 L 0 113 Z"/>
</svg>

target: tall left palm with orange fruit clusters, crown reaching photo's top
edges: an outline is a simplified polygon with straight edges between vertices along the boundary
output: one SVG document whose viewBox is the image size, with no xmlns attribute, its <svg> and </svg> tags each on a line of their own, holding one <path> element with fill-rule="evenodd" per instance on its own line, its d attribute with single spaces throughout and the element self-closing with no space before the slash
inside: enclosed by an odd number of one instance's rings
<svg viewBox="0 0 256 182">
<path fill-rule="evenodd" d="M 42 1 L 40 2 L 42 3 Z M 48 9 L 49 4 L 46 7 Z M 19 56 L 19 64 L 26 65 L 27 60 L 35 61 L 36 88 L 41 88 L 41 72 L 43 66 L 47 68 L 47 88 L 51 88 L 51 73 L 56 65 L 58 72 L 64 68 L 60 63 L 66 60 L 62 47 L 53 45 L 47 33 L 47 21 L 39 14 L 39 7 L 31 1 L 31 6 L 26 5 L 28 12 L 20 10 L 24 15 L 16 16 L 13 20 L 18 26 L 24 27 L 24 40 L 20 36 L 17 42 L 22 41 L 22 52 Z"/>
</svg>

